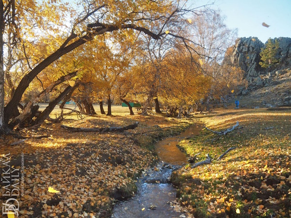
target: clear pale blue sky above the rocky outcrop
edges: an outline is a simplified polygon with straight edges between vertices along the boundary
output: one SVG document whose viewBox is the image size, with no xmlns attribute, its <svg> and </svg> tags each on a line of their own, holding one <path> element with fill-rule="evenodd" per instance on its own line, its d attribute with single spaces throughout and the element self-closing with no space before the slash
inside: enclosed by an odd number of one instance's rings
<svg viewBox="0 0 291 218">
<path fill-rule="evenodd" d="M 192 0 L 195 5 L 214 0 Z M 237 28 L 239 37 L 258 37 L 265 43 L 268 38 L 291 38 L 291 0 L 215 0 L 213 9 L 226 16 L 228 28 Z M 262 23 L 270 25 L 263 27 Z"/>
</svg>

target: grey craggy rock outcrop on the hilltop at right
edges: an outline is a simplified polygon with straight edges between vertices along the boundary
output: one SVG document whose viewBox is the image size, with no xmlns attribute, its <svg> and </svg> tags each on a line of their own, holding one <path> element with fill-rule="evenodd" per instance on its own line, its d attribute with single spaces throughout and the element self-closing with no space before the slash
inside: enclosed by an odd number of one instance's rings
<svg viewBox="0 0 291 218">
<path fill-rule="evenodd" d="M 276 58 L 279 59 L 279 63 L 272 70 L 291 67 L 291 38 L 279 37 L 277 40 L 279 49 Z M 228 48 L 224 63 L 239 66 L 245 72 L 245 78 L 252 82 L 259 75 L 266 73 L 266 69 L 259 65 L 259 53 L 266 43 L 263 44 L 257 37 L 238 38 L 235 45 Z"/>
</svg>

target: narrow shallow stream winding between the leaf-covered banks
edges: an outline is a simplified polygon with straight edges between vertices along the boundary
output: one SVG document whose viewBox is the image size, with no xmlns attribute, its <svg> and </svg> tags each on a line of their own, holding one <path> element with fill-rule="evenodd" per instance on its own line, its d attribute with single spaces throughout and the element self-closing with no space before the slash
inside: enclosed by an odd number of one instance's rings
<svg viewBox="0 0 291 218">
<path fill-rule="evenodd" d="M 192 125 L 178 136 L 158 141 L 155 150 L 161 161 L 138 180 L 134 197 L 116 203 L 112 218 L 186 218 L 185 213 L 173 206 L 177 190 L 170 184 L 170 176 L 187 162 L 186 154 L 177 147 L 178 142 L 198 135 L 200 130 L 200 126 Z"/>
</svg>

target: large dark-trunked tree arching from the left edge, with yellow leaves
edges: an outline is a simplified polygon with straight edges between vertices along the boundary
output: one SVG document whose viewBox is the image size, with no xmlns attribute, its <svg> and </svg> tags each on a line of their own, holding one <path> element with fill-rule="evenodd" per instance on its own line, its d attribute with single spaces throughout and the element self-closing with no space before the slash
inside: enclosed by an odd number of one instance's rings
<svg viewBox="0 0 291 218">
<path fill-rule="evenodd" d="M 35 4 L 34 1 L 29 1 Z M 55 2 L 55 1 L 54 1 Z M 16 2 L 18 4 L 18 2 Z M 23 2 L 21 2 L 23 3 Z M 5 2 L 6 4 L 6 2 Z M 47 6 L 48 4 L 46 4 Z M 58 3 L 52 3 L 52 5 L 56 5 L 58 7 Z M 7 7 L 8 6 L 8 7 Z M 15 5 L 14 1 L 8 1 L 7 5 L 4 5 L 1 1 L 1 16 L 4 17 L 4 13 L 13 16 L 19 16 L 22 18 L 22 22 L 26 24 L 26 28 L 32 28 L 33 22 L 30 23 L 26 20 L 25 16 L 22 14 L 17 14 L 18 11 L 14 10 L 15 7 L 19 7 L 19 5 Z M 79 11 L 80 11 L 80 6 Z M 131 29 L 137 32 L 144 32 L 147 35 L 150 35 L 153 39 L 160 39 L 162 35 L 165 33 L 165 26 L 173 19 L 176 19 L 179 16 L 184 16 L 186 13 L 194 13 L 197 9 L 185 9 L 184 4 L 180 4 L 179 1 L 149 1 L 147 4 L 144 1 L 86 1 L 83 2 L 82 6 L 84 7 L 83 12 L 79 14 L 74 20 L 72 20 L 72 27 L 70 28 L 69 33 L 65 32 L 66 28 L 62 31 L 59 31 L 60 34 L 52 33 L 51 35 L 56 35 L 55 39 L 48 39 L 46 42 L 54 42 L 55 47 L 48 47 L 48 53 L 45 54 L 39 61 L 31 65 L 28 72 L 21 78 L 19 84 L 15 88 L 15 92 L 11 97 L 10 101 L 5 107 L 5 111 L 0 111 L 0 117 L 3 119 L 5 117 L 5 122 L 8 123 L 11 118 L 15 118 L 19 115 L 19 111 L 17 106 L 21 101 L 23 93 L 31 84 L 32 80 L 36 78 L 45 68 L 47 68 L 51 63 L 55 62 L 65 54 L 73 51 L 77 47 L 85 44 L 88 41 L 93 40 L 98 35 L 103 35 L 105 32 L 117 32 L 120 33 L 122 30 Z M 30 9 L 30 5 L 28 9 Z M 9 10 L 8 10 L 9 8 Z M 47 8 L 50 8 L 47 6 Z M 4 10 L 7 10 L 4 12 Z M 28 10 L 30 11 L 30 10 Z M 37 11 L 37 10 L 36 10 Z M 58 11 L 58 10 L 55 10 Z M 61 11 L 61 10 L 60 10 Z M 17 13 L 16 13 L 17 12 Z M 40 21 L 46 20 L 42 19 L 43 16 L 50 16 L 49 13 L 40 12 Z M 37 16 L 35 16 L 37 17 Z M 64 16 L 66 17 L 66 16 Z M 5 22 L 2 22 L 4 20 Z M 7 19 L 4 17 L 2 19 L 2 32 L 5 32 L 6 26 L 13 25 L 12 19 Z M 49 19 L 50 20 L 50 19 Z M 155 20 L 161 20 L 162 25 L 154 30 L 149 30 L 148 24 Z M 50 20 L 52 22 L 52 20 Z M 40 22 L 41 23 L 41 22 Z M 56 25 L 56 29 L 58 29 L 58 25 Z M 59 29 L 60 30 L 60 29 Z M 50 33 L 47 31 L 46 33 Z M 64 37 L 67 35 L 67 37 Z M 171 34 L 169 34 L 171 35 Z M 173 37 L 178 37 L 176 34 L 172 34 Z M 29 40 L 30 38 L 26 38 Z M 1 40 L 3 42 L 3 40 Z M 185 41 L 185 46 L 190 47 L 190 41 Z M 57 42 L 57 43 L 56 43 Z M 1 44 L 3 45 L 3 44 Z M 2 46 L 1 46 L 2 47 Z M 3 51 L 3 49 L 2 49 Z M 1 53 L 2 54 L 2 53 Z M 1 79 L 3 81 L 3 70 L 0 73 Z M 2 84 L 2 83 L 1 83 Z M 1 86 L 1 96 L 3 95 L 3 88 Z M 1 97 L 2 99 L 2 97 Z M 1 100 L 0 108 L 3 108 L 4 101 Z M 1 127 L 3 126 L 3 122 L 1 122 Z M 12 125 L 13 126 L 13 125 Z"/>
</svg>

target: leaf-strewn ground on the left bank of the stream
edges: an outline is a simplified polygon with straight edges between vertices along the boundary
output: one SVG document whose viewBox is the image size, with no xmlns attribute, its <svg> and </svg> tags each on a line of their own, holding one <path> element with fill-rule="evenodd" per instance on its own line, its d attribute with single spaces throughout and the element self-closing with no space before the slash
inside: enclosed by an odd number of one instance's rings
<svg viewBox="0 0 291 218">
<path fill-rule="evenodd" d="M 21 153 L 24 153 L 24 193 L 17 197 L 19 217 L 110 217 L 114 199 L 133 195 L 136 192 L 136 178 L 157 161 L 157 156 L 150 151 L 152 143 L 177 134 L 189 124 L 162 116 L 140 115 L 91 116 L 63 123 L 74 127 L 106 127 L 125 126 L 136 121 L 140 122 L 139 126 L 129 132 L 174 127 L 133 136 L 72 133 L 56 124 L 42 125 L 37 131 L 23 131 L 22 136 L 34 138 L 18 145 L 10 144 L 19 139 L 2 137 L 0 154 L 2 160 L 6 160 L 3 155 L 10 154 L 8 165 L 20 169 Z M 49 138 L 35 139 L 40 135 Z M 60 192 L 50 193 L 49 187 Z M 0 191 L 4 191 L 4 186 Z M 2 195 L 0 198 L 1 202 L 7 199 Z"/>
</svg>

